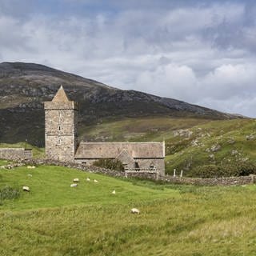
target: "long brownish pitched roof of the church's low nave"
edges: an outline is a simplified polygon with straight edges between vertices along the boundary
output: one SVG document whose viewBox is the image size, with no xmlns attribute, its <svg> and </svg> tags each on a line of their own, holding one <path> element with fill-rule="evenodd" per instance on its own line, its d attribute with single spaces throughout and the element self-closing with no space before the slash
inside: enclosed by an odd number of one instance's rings
<svg viewBox="0 0 256 256">
<path fill-rule="evenodd" d="M 81 142 L 74 158 L 117 158 L 126 150 L 133 158 L 164 158 L 164 142 Z"/>
</svg>

